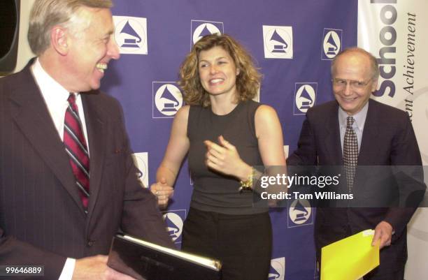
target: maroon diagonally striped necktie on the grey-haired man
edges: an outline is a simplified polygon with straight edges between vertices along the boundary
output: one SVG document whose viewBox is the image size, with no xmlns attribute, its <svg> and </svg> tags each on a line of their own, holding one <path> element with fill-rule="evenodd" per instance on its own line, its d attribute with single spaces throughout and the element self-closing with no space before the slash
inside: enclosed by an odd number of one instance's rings
<svg viewBox="0 0 428 280">
<path fill-rule="evenodd" d="M 90 161 L 87 145 L 80 124 L 76 96 L 70 94 L 69 107 L 67 107 L 64 119 L 64 145 L 66 153 L 70 157 L 71 168 L 76 177 L 76 186 L 79 189 L 83 206 L 87 208 L 90 196 Z"/>
</svg>

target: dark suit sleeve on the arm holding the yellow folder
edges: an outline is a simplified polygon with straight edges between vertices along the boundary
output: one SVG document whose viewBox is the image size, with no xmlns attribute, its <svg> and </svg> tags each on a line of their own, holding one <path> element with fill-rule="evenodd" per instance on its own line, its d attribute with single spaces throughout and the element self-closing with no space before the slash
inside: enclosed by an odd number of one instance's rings
<svg viewBox="0 0 428 280">
<path fill-rule="evenodd" d="M 422 200 L 426 188 L 423 184 L 422 160 L 418 142 L 411 121 L 407 115 L 401 117 L 400 120 L 399 129 L 392 139 L 390 161 L 391 165 L 398 165 L 399 170 L 395 177 L 400 195 L 404 194 L 404 201 L 401 201 L 403 207 L 390 208 L 385 216 L 385 221 L 390 223 L 395 231 L 393 241 L 406 230 L 407 223 Z M 406 202 L 409 203 L 409 200 L 410 205 L 404 205 Z"/>
</svg>

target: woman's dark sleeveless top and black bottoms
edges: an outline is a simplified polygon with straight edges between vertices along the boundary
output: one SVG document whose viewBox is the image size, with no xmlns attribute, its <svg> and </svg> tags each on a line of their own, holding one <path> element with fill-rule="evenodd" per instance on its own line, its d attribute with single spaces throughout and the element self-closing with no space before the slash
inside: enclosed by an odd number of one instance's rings
<svg viewBox="0 0 428 280">
<path fill-rule="evenodd" d="M 194 190 L 183 228 L 182 249 L 222 260 L 224 280 L 267 279 L 271 221 L 267 208 L 252 207 L 252 193 L 239 192 L 239 180 L 209 170 L 204 140 L 223 135 L 248 165 L 263 165 L 255 135 L 259 103 L 243 101 L 227 115 L 191 106 L 187 122 L 189 167 Z"/>
</svg>

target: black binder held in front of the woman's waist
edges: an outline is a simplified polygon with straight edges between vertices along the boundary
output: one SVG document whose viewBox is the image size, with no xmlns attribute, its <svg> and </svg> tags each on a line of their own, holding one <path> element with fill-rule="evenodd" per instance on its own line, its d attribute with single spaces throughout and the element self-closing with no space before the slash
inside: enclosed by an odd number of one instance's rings
<svg viewBox="0 0 428 280">
<path fill-rule="evenodd" d="M 220 280 L 218 260 L 116 235 L 107 265 L 139 280 Z"/>
</svg>

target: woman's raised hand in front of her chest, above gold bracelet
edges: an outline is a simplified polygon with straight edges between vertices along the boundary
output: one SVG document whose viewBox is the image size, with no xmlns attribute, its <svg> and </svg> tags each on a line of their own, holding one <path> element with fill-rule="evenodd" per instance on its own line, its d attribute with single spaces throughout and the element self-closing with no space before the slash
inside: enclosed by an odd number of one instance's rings
<svg viewBox="0 0 428 280">
<path fill-rule="evenodd" d="M 207 149 L 206 165 L 225 175 L 233 175 L 239 179 L 247 178 L 252 169 L 241 159 L 236 147 L 225 140 L 222 135 L 219 136 L 218 141 L 220 145 L 210 140 L 204 141 Z"/>
</svg>

